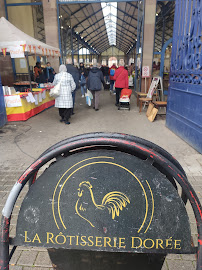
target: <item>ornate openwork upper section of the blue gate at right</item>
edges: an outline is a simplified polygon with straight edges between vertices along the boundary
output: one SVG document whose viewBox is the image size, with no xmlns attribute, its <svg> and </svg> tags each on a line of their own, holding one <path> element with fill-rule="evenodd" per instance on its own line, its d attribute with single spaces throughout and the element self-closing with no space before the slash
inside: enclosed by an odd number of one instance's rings
<svg viewBox="0 0 202 270">
<path fill-rule="evenodd" d="M 171 81 L 202 84 L 202 0 L 176 4 Z"/>
</svg>

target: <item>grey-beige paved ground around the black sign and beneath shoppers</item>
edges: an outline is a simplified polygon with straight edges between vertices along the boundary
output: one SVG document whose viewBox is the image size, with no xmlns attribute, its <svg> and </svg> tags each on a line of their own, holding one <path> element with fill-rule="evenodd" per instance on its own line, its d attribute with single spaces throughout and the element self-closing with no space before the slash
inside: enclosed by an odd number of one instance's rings
<svg viewBox="0 0 202 270">
<path fill-rule="evenodd" d="M 107 104 L 106 93 L 102 97 L 102 101 Z M 112 99 L 112 97 L 110 97 Z M 82 100 L 79 100 L 76 107 L 76 113 L 78 109 L 80 109 L 79 105 L 81 106 Z M 112 102 L 111 102 L 112 103 Z M 177 160 L 181 163 L 182 167 L 184 168 L 185 172 L 187 173 L 188 179 L 192 184 L 193 188 L 195 189 L 198 197 L 202 200 L 202 155 L 196 152 L 193 148 L 183 142 L 180 138 L 175 136 L 172 132 L 165 128 L 165 119 L 157 119 L 156 122 L 153 124 L 149 123 L 145 114 L 142 115 L 138 114 L 138 109 L 135 107 L 135 100 L 133 101 L 134 109 L 131 110 L 130 116 L 123 111 L 119 112 L 119 117 L 122 117 L 122 120 L 125 120 L 125 124 L 130 126 L 130 129 L 125 127 L 119 127 L 119 122 L 116 120 L 117 111 L 115 108 L 110 107 L 106 109 L 107 112 L 102 112 L 102 115 L 96 115 L 95 122 L 93 127 L 86 128 L 85 132 L 90 131 L 117 131 L 117 132 L 125 132 L 130 133 L 138 136 L 142 136 L 145 139 L 154 138 L 152 141 L 159 144 L 170 153 L 172 153 Z M 109 104 L 106 105 L 106 107 Z M 110 105 L 111 106 L 111 105 Z M 108 108 L 108 107 L 107 107 Z M 83 105 L 84 110 L 85 107 Z M 88 115 L 89 112 L 86 114 Z M 90 112 L 90 113 L 94 113 Z M 132 118 L 133 114 L 137 117 L 136 120 Z M 94 117 L 94 116 L 93 116 Z M 110 127 L 104 127 L 100 121 L 100 118 L 109 118 L 113 117 L 112 125 Z M 131 119 L 128 120 L 128 117 Z M 53 145 L 55 142 L 60 141 L 63 138 L 70 137 L 72 135 L 76 135 L 79 133 L 84 133 L 83 127 L 80 125 L 79 120 L 78 123 L 74 124 L 72 129 L 71 125 L 68 131 L 64 131 L 64 126 L 61 129 L 60 124 L 58 125 L 58 130 L 63 132 L 59 133 L 57 137 L 51 129 L 49 130 L 49 125 L 54 125 L 53 120 L 57 118 L 57 112 L 53 109 L 50 109 L 43 114 L 35 116 L 34 118 L 28 120 L 25 124 L 22 123 L 12 123 L 11 128 L 7 125 L 3 128 L 0 133 L 1 139 L 1 148 L 0 148 L 0 210 L 2 211 L 3 206 L 6 202 L 7 196 L 18 179 L 21 173 L 27 168 L 27 166 L 33 161 L 31 158 L 32 156 L 37 157 L 40 153 L 42 153 L 46 148 Z M 79 119 L 76 118 L 75 119 Z M 97 119 L 97 120 L 96 120 Z M 41 121 L 43 121 L 43 126 L 41 126 Z M 54 120 L 55 121 L 55 120 Z M 109 121 L 109 119 L 108 119 Z M 129 121 L 129 122 L 127 122 Z M 59 121 L 58 121 L 59 122 Z M 48 123 L 48 124 L 47 124 Z M 32 130 L 27 131 L 27 125 L 32 127 Z M 57 125 L 55 128 L 57 129 Z M 138 133 L 136 132 L 138 125 Z M 133 129 L 131 129 L 131 126 Z M 148 131 L 147 131 L 148 126 Z M 44 128 L 44 129 L 43 129 Z M 66 128 L 66 127 L 65 127 Z M 61 130 L 60 130 L 61 129 Z M 164 130 L 165 129 L 165 130 Z M 26 130 L 26 131 L 25 131 Z M 44 132 L 44 137 L 39 136 L 38 131 Z M 75 132 L 76 130 L 76 132 Z M 133 130 L 133 132 L 132 132 Z M 160 130 L 163 132 L 165 138 L 161 141 L 159 136 Z M 25 136 L 26 132 L 26 138 Z M 51 133 L 52 132 L 52 133 Z M 153 137 L 151 137 L 151 133 Z M 38 134 L 38 139 L 40 140 L 40 145 L 35 145 L 36 134 Z M 148 136 L 145 134 L 148 134 Z M 27 138 L 29 137 L 29 140 Z M 47 137 L 49 140 L 47 140 Z M 32 145 L 29 148 L 28 142 Z M 159 142 L 159 143 L 158 143 Z M 19 151 L 20 149 L 20 151 Z M 36 152 L 36 149 L 38 149 Z M 28 151 L 29 150 L 29 151 Z M 30 157 L 31 156 L 31 157 Z M 28 187 L 25 187 L 21 192 L 13 211 L 12 219 L 11 219 L 11 226 L 10 226 L 10 237 L 15 236 L 15 229 L 16 229 L 16 221 L 17 216 L 19 213 L 19 209 L 23 198 L 28 190 Z M 187 212 L 189 214 L 190 223 L 191 223 L 191 230 L 192 230 L 192 237 L 194 244 L 197 245 L 197 230 L 196 230 L 196 223 L 194 214 L 192 212 L 191 206 L 188 203 Z M 51 261 L 49 259 L 48 253 L 46 249 L 43 248 L 27 248 L 27 247 L 18 247 L 10 261 L 10 269 L 11 270 L 40 270 L 40 269 L 53 269 Z M 135 268 L 134 268 L 135 269 Z M 183 269 L 183 270 L 192 270 L 196 269 L 196 259 L 195 255 L 168 255 L 166 261 L 163 266 L 163 270 L 176 270 L 176 269 Z M 139 270 L 139 269 L 138 269 Z"/>
</svg>

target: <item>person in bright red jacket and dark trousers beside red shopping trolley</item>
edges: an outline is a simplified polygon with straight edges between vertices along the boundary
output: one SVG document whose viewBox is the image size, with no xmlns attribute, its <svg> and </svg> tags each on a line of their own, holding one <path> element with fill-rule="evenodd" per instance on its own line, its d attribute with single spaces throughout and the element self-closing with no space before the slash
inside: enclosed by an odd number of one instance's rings
<svg viewBox="0 0 202 270">
<path fill-rule="evenodd" d="M 128 88 L 128 71 L 124 68 L 124 62 L 120 60 L 119 68 L 114 74 L 115 89 L 116 89 L 116 106 L 119 105 L 119 98 L 121 90 L 123 88 Z"/>
</svg>

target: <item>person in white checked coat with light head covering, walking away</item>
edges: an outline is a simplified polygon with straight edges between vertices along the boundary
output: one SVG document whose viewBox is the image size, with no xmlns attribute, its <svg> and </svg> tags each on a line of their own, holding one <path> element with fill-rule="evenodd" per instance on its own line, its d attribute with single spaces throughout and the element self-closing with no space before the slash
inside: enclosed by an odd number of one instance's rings
<svg viewBox="0 0 202 270">
<path fill-rule="evenodd" d="M 60 95 L 55 99 L 55 107 L 59 109 L 60 122 L 69 125 L 69 118 L 73 108 L 72 92 L 76 89 L 76 84 L 70 73 L 67 73 L 65 65 L 60 65 L 59 73 L 55 75 L 53 84 L 60 83 Z"/>
</svg>

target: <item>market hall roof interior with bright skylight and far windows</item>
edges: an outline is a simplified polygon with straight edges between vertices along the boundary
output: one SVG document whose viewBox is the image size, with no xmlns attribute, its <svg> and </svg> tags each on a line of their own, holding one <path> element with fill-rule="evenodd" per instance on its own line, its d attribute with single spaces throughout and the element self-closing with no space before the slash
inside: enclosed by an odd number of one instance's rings
<svg viewBox="0 0 202 270">
<path fill-rule="evenodd" d="M 62 61 L 73 64 L 118 66 L 138 62 L 141 71 L 144 1 L 92 2 L 59 1 L 59 32 Z M 129 61 L 130 60 L 130 61 Z M 129 63 L 130 62 L 130 63 Z M 135 71 L 135 70 L 134 70 Z M 135 75 L 135 74 L 133 74 Z"/>
</svg>

